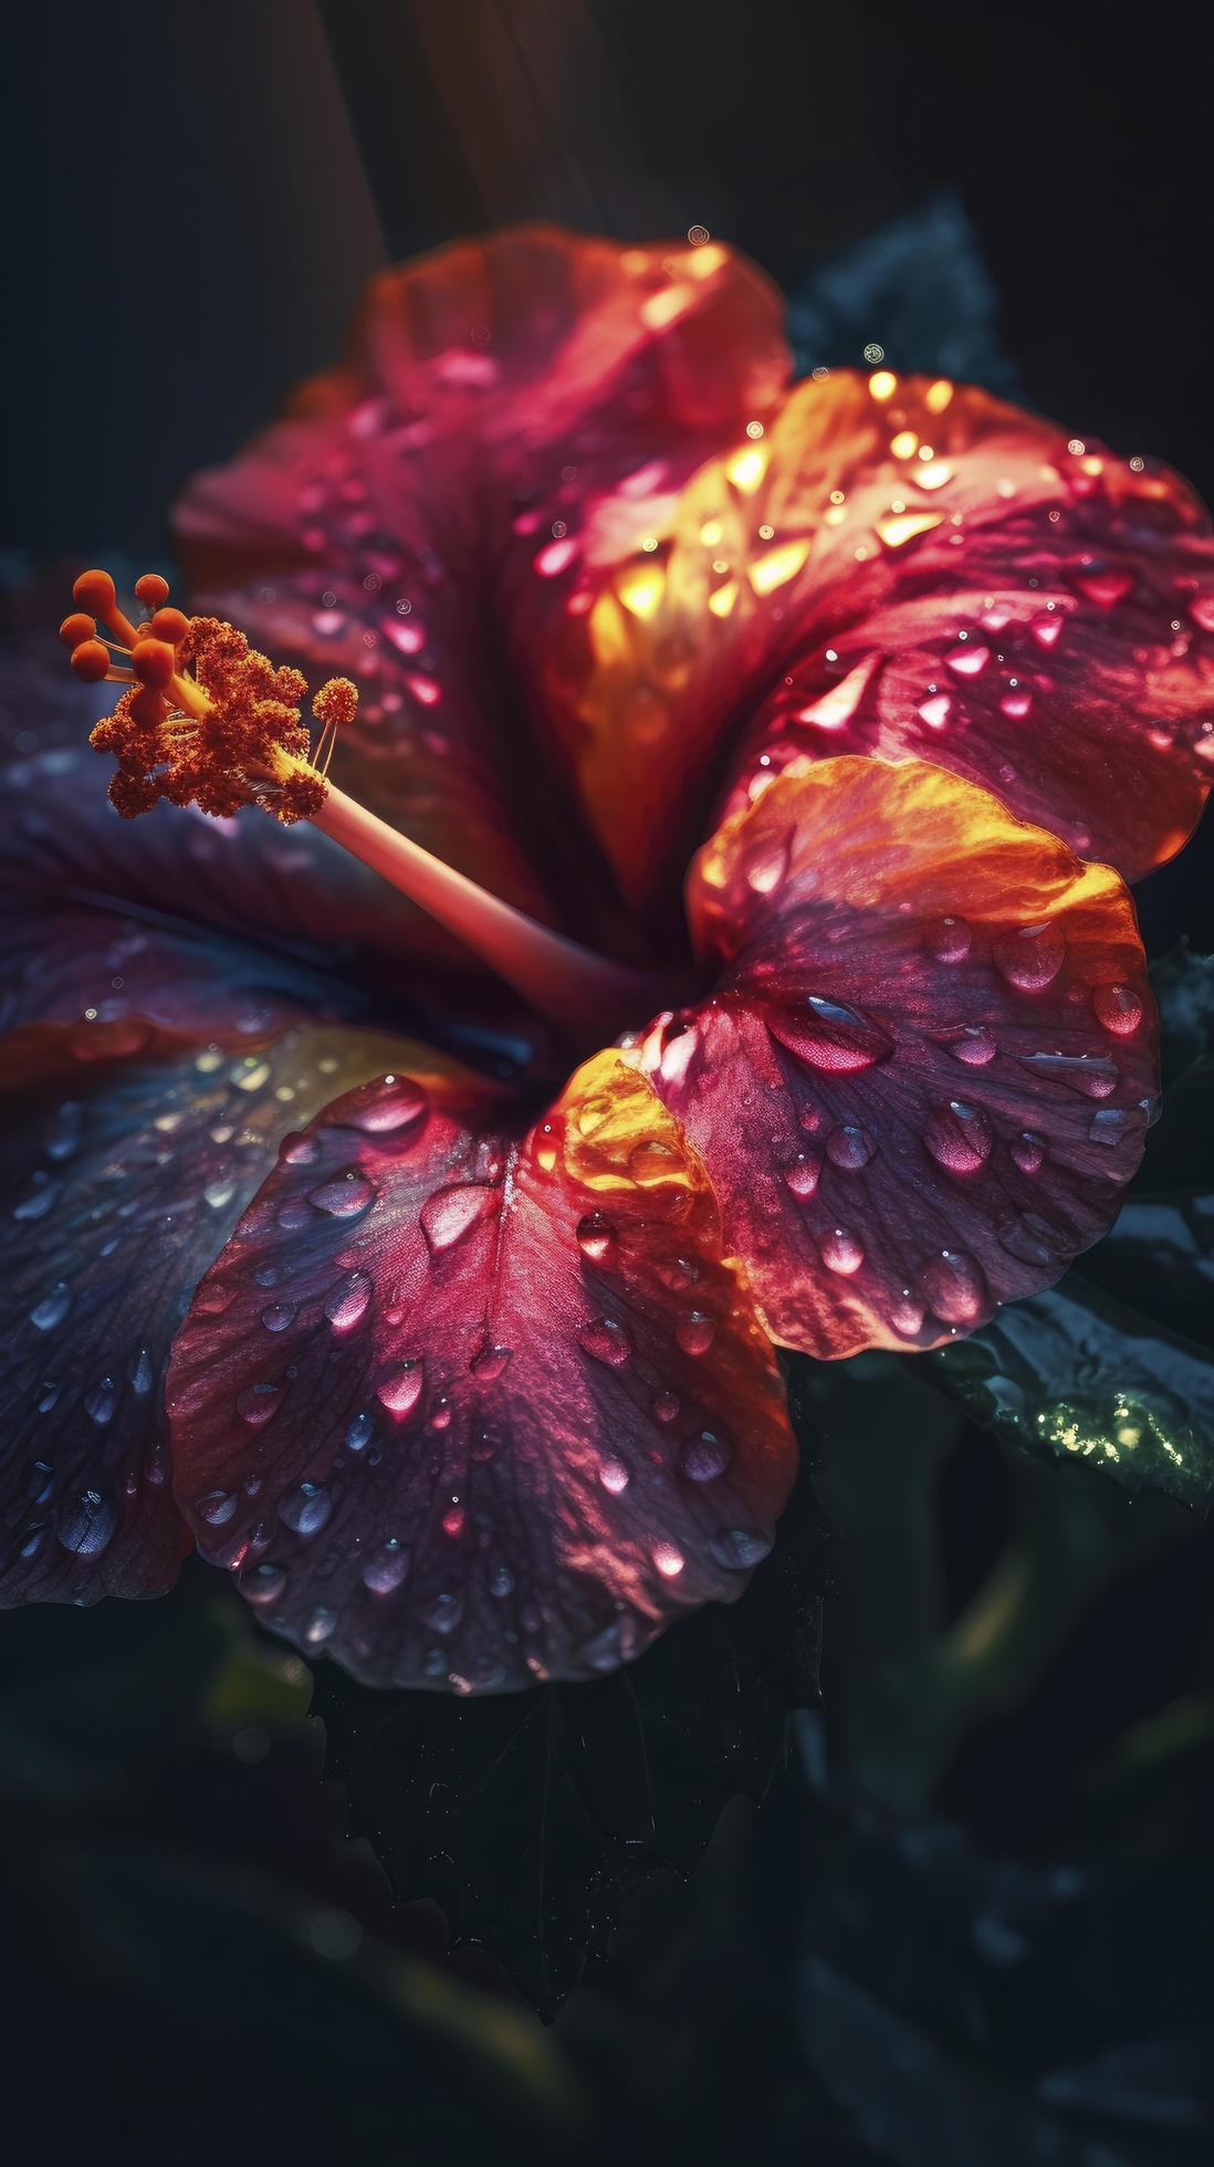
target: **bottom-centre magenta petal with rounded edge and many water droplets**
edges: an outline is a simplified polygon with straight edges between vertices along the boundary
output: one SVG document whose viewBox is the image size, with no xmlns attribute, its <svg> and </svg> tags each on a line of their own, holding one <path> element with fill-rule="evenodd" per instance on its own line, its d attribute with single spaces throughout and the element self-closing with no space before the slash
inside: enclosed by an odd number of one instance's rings
<svg viewBox="0 0 1214 2167">
<path fill-rule="evenodd" d="M 522 1142 L 488 1116 L 334 1103 L 173 1352 L 199 1547 L 371 1684 L 609 1671 L 741 1591 L 793 1476 L 711 1188 L 644 1079 L 603 1053 Z"/>
</svg>

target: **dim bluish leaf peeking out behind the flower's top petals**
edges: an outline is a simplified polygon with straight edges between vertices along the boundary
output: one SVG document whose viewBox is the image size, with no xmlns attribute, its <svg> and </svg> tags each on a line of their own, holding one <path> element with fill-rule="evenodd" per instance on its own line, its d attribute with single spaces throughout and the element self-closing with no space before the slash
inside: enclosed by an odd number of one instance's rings
<svg viewBox="0 0 1214 2167">
<path fill-rule="evenodd" d="M 789 332 L 798 373 L 858 368 L 876 342 L 891 368 L 1017 392 L 991 273 L 950 193 L 819 264 L 791 295 Z"/>
</svg>

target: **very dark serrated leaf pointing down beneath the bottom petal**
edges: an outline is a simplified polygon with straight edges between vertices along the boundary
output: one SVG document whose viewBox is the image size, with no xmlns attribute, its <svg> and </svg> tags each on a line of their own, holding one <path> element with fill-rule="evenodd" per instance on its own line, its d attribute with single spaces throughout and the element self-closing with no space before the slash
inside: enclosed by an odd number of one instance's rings
<svg viewBox="0 0 1214 2167">
<path fill-rule="evenodd" d="M 434 1898 L 453 1942 L 481 1942 L 551 2017 L 627 1898 L 685 1874 L 728 1799 L 763 1799 L 791 1708 L 817 1695 L 815 1508 L 733 1608 L 711 1606 L 590 1686 L 447 1699 L 317 1671 L 314 1714 L 351 1833 L 395 1896 Z"/>
</svg>

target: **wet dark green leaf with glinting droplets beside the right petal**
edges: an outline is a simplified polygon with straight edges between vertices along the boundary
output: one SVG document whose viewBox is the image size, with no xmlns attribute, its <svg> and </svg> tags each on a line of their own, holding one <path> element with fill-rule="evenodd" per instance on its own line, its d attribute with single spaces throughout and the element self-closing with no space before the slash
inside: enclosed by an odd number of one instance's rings
<svg viewBox="0 0 1214 2167">
<path fill-rule="evenodd" d="M 1058 1287 L 932 1354 L 989 1428 L 1125 1489 L 1214 1500 L 1214 958 L 1151 973 L 1164 1112 L 1112 1233 Z"/>
</svg>

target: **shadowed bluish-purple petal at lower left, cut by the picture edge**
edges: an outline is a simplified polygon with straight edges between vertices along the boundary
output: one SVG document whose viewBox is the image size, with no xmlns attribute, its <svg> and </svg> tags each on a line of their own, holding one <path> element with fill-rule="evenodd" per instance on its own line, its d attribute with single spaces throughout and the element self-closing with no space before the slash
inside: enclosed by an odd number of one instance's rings
<svg viewBox="0 0 1214 2167">
<path fill-rule="evenodd" d="M 189 1539 L 163 1406 L 171 1335 L 286 1120 L 384 1060 L 371 1036 L 290 1031 L 236 1062 L 119 1062 L 9 1118 L 0 1604 L 176 1580 Z"/>
</svg>

